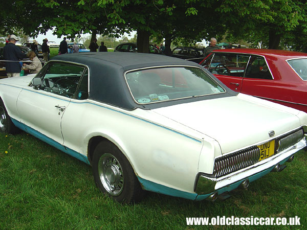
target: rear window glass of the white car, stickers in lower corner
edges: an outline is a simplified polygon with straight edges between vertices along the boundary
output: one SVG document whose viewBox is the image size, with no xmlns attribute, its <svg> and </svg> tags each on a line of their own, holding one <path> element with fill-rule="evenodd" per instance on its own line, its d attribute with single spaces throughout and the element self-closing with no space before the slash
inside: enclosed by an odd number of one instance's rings
<svg viewBox="0 0 307 230">
<path fill-rule="evenodd" d="M 126 81 L 139 104 L 221 94 L 226 90 L 198 67 L 160 67 L 128 72 Z"/>
</svg>

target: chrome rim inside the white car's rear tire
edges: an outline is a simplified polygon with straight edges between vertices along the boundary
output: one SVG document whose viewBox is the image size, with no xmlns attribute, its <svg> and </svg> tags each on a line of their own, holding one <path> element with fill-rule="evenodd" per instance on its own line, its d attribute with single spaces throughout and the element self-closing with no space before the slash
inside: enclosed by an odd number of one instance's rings
<svg viewBox="0 0 307 230">
<path fill-rule="evenodd" d="M 124 174 L 117 158 L 111 153 L 103 154 L 98 162 L 98 174 L 106 192 L 112 196 L 121 194 L 124 188 Z"/>
</svg>

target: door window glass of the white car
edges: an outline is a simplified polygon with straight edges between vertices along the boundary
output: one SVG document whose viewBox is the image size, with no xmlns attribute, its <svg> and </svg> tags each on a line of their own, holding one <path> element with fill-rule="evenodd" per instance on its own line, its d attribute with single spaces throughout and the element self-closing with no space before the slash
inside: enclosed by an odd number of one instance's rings
<svg viewBox="0 0 307 230">
<path fill-rule="evenodd" d="M 40 89 L 68 98 L 74 98 L 84 66 L 68 63 L 49 64 L 42 76 Z M 40 77 L 40 76 L 39 76 Z"/>
</svg>

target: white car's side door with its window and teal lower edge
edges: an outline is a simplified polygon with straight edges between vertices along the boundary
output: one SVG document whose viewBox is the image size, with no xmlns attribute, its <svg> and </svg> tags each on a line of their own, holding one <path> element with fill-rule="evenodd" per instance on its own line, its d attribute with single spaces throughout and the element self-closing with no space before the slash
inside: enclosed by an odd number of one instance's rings
<svg viewBox="0 0 307 230">
<path fill-rule="evenodd" d="M 39 88 L 27 86 L 17 99 L 20 122 L 25 129 L 49 144 L 63 144 L 61 119 L 75 97 L 84 69 L 64 62 L 50 62 L 43 68 L 38 74 L 42 78 Z"/>
</svg>

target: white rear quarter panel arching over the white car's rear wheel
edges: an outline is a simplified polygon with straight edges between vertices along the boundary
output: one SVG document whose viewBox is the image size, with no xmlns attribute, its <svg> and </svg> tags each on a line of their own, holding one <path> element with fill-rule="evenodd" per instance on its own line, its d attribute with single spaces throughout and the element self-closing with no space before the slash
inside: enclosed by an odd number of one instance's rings
<svg viewBox="0 0 307 230">
<path fill-rule="evenodd" d="M 137 176 L 193 193 L 203 142 L 184 129 L 190 130 L 150 111 L 91 100 L 71 102 L 62 118 L 65 146 L 86 154 L 91 137 L 105 137 L 123 152 Z"/>
</svg>

